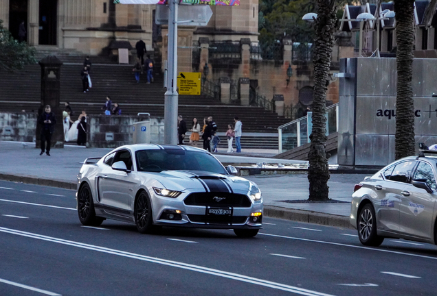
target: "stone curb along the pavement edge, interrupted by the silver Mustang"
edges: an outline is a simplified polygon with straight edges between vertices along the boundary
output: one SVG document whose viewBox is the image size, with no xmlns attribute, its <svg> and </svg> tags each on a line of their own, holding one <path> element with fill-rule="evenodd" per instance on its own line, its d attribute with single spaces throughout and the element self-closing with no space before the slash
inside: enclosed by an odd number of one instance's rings
<svg viewBox="0 0 437 296">
<path fill-rule="evenodd" d="M 75 182 L 50 180 L 46 178 L 32 177 L 29 175 L 12 175 L 8 173 L 0 173 L 0 180 L 19 182 L 24 184 L 51 186 L 71 190 L 76 190 L 77 188 L 77 184 Z M 290 221 L 355 229 L 352 227 L 352 225 L 350 225 L 349 217 L 339 216 L 335 214 L 326 214 L 321 212 L 295 210 L 278 206 L 265 205 L 264 215 L 270 218 L 279 218 Z"/>
</svg>

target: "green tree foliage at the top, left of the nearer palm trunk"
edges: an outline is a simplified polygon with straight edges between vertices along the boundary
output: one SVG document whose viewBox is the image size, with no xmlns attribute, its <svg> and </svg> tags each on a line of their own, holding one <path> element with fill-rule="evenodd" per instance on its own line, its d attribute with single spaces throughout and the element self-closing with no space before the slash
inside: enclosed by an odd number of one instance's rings
<svg viewBox="0 0 437 296">
<path fill-rule="evenodd" d="M 258 32 L 260 42 L 274 42 L 289 36 L 293 42 L 312 42 L 314 29 L 302 16 L 315 12 L 314 0 L 260 0 Z"/>
</svg>

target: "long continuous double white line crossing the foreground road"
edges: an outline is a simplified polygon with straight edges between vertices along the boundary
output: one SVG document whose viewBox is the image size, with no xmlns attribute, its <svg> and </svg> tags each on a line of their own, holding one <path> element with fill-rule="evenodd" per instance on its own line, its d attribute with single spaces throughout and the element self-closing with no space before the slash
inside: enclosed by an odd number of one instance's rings
<svg viewBox="0 0 437 296">
<path fill-rule="evenodd" d="M 299 287 L 295 287 L 295 286 L 289 286 L 287 284 L 280 284 L 278 282 L 271 282 L 268 280 L 262 280 L 256 277 L 249 277 L 247 275 L 241 275 L 238 273 L 231 273 L 231 272 L 227 272 L 227 271 L 221 271 L 219 269 L 210 269 L 208 267 L 202 267 L 199 265 L 194 265 L 194 264 L 187 264 L 187 263 L 183 263 L 183 262 L 178 262 L 178 261 L 173 261 L 173 260 L 166 260 L 166 259 L 161 259 L 161 258 L 155 258 L 155 257 L 151 257 L 151 256 L 145 256 L 145 255 L 141 255 L 141 254 L 135 254 L 135 253 L 130 253 L 130 252 L 126 252 L 126 251 L 120 251 L 117 249 L 110 249 L 107 247 L 99 247 L 96 245 L 89 245 L 89 244 L 85 244 L 85 243 L 78 243 L 72 240 L 64 240 L 62 238 L 54 238 L 52 236 L 43 236 L 41 234 L 33 234 L 31 232 L 23 232 L 21 230 L 13 230 L 10 228 L 5 228 L 5 227 L 0 227 L 0 232 L 4 232 L 4 233 L 8 233 L 8 234 L 14 234 L 14 235 L 18 235 L 18 236 L 24 236 L 24 237 L 28 237 L 28 238 L 35 238 L 38 240 L 45 240 L 45 241 L 49 241 L 52 243 L 58 243 L 61 245 L 69 245 L 72 247 L 79 247 L 82 249 L 89 249 L 89 250 L 93 250 L 93 251 L 100 251 L 102 253 L 106 253 L 106 254 L 112 254 L 112 255 L 116 255 L 116 256 L 122 256 L 122 257 L 126 257 L 126 258 L 132 258 L 132 259 L 136 259 L 136 260 L 142 260 L 142 261 L 146 261 L 146 262 L 153 262 L 153 263 L 157 263 L 157 264 L 161 264 L 161 265 L 166 265 L 168 267 L 177 267 L 179 269 L 186 269 L 186 270 L 190 270 L 190 271 L 196 271 L 199 273 L 205 273 L 205 274 L 209 274 L 209 275 L 215 275 L 215 276 L 219 276 L 219 277 L 225 277 L 231 280 L 238 280 L 240 282 L 247 282 L 250 284 L 256 284 L 258 286 L 265 286 L 265 287 L 269 287 L 269 288 L 274 288 L 277 290 L 281 290 L 281 291 L 287 291 L 287 292 L 291 292 L 291 293 L 295 293 L 295 294 L 299 294 L 299 295 L 306 295 L 306 296 L 332 296 L 330 294 L 326 294 L 326 293 L 321 293 L 321 292 L 317 292 L 317 291 L 311 291 L 308 289 L 304 289 L 304 288 L 299 288 Z"/>
</svg>

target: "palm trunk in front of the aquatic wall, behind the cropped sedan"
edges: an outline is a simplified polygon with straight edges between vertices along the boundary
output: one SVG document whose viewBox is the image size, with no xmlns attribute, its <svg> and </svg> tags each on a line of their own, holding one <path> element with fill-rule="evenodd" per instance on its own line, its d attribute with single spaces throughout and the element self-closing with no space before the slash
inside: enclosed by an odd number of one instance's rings
<svg viewBox="0 0 437 296">
<path fill-rule="evenodd" d="M 395 158 L 414 155 L 414 101 L 412 88 L 414 0 L 395 0 L 396 13 L 396 136 Z"/>
</svg>

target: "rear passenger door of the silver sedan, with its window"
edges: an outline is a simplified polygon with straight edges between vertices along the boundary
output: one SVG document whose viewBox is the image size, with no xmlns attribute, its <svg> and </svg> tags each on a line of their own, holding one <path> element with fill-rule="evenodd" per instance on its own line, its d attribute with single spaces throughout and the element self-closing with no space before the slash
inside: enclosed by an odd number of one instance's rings
<svg viewBox="0 0 437 296">
<path fill-rule="evenodd" d="M 398 162 L 383 171 L 383 179 L 374 182 L 374 192 L 377 193 L 374 206 L 380 230 L 400 231 L 399 209 L 403 196 L 402 191 L 410 180 L 415 165 L 415 160 Z"/>
</svg>

